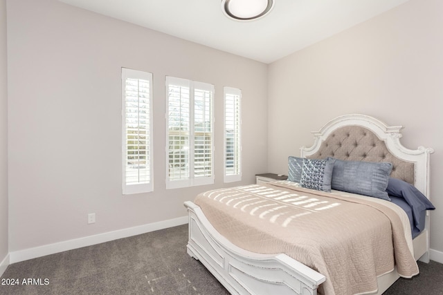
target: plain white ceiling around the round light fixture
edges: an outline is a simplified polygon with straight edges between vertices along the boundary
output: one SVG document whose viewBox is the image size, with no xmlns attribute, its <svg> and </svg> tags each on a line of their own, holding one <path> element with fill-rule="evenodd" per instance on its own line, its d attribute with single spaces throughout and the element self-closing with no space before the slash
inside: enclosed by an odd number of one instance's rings
<svg viewBox="0 0 443 295">
<path fill-rule="evenodd" d="M 233 21 L 221 0 L 59 0 L 266 64 L 409 0 L 274 0 L 269 15 Z"/>
</svg>

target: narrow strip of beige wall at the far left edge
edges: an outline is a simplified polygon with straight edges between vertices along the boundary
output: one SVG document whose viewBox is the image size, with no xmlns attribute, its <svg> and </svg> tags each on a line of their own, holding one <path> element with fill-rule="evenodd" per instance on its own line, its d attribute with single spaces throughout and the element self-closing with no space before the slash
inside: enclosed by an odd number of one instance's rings
<svg viewBox="0 0 443 295">
<path fill-rule="evenodd" d="M 6 58 L 6 0 L 0 0 L 0 263 L 8 255 L 8 70 Z"/>
</svg>

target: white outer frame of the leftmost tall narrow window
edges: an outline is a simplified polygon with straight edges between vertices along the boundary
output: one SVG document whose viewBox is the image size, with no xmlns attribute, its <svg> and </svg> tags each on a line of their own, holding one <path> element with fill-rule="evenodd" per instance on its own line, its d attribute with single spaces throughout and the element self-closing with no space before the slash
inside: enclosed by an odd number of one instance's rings
<svg viewBox="0 0 443 295">
<path fill-rule="evenodd" d="M 153 146 L 153 118 L 152 118 L 152 93 L 153 93 L 153 74 L 149 72 L 144 72 L 141 70 L 132 70 L 129 68 L 122 68 L 122 193 L 123 195 L 130 195 L 134 193 L 148 193 L 150 191 L 154 191 L 154 173 L 153 173 L 153 167 L 154 167 L 154 146 Z M 147 91 L 147 99 L 149 99 L 149 102 L 147 102 L 147 122 L 149 124 L 147 128 L 147 133 L 145 136 L 147 137 L 145 146 L 146 146 L 146 155 L 145 155 L 145 161 L 148 162 L 147 169 L 141 169 L 140 168 L 140 162 L 138 162 L 138 176 L 140 176 L 141 171 L 147 171 L 147 181 L 138 181 L 134 183 L 128 183 L 127 182 L 127 166 L 128 166 L 128 143 L 127 143 L 127 79 L 137 79 L 137 80 L 146 80 L 148 82 L 148 91 Z M 140 118 L 140 111 L 141 108 L 140 104 L 140 91 L 138 90 L 138 112 L 137 112 L 137 120 L 141 120 Z M 138 136 L 140 136 L 140 133 L 136 133 Z M 138 153 L 137 155 L 140 155 L 139 151 L 140 149 L 137 149 Z M 140 161 L 140 158 L 137 159 Z"/>
</svg>

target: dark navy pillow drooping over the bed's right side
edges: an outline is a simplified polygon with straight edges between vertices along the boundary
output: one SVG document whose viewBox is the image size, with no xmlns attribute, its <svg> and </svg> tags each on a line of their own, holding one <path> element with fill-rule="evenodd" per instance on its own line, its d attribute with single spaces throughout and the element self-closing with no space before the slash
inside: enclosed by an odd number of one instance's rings
<svg viewBox="0 0 443 295">
<path fill-rule="evenodd" d="M 424 220 L 420 222 L 420 213 L 425 210 L 435 209 L 431 201 L 412 184 L 397 178 L 389 178 L 386 191 L 390 196 L 404 198 L 404 200 L 406 200 L 409 206 L 413 209 L 415 227 L 422 231 L 424 229 Z"/>
</svg>

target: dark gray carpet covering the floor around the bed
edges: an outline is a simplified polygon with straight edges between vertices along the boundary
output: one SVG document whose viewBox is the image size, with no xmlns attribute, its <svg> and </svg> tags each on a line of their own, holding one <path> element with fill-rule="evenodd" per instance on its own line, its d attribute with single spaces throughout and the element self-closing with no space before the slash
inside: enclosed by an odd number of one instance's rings
<svg viewBox="0 0 443 295">
<path fill-rule="evenodd" d="M 18 278 L 19 285 L 0 285 L 0 294 L 228 294 L 186 254 L 187 240 L 188 225 L 181 225 L 15 263 L 1 278 Z M 419 268 L 385 294 L 443 294 L 443 265 Z M 28 278 L 42 285 L 22 284 Z"/>
</svg>

